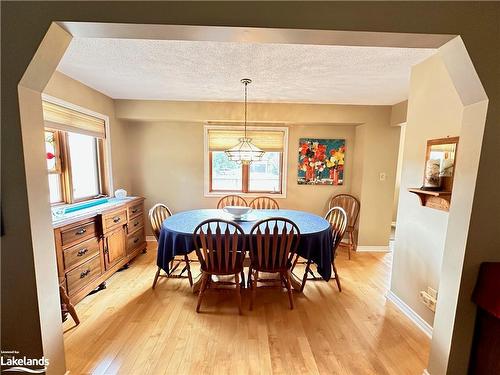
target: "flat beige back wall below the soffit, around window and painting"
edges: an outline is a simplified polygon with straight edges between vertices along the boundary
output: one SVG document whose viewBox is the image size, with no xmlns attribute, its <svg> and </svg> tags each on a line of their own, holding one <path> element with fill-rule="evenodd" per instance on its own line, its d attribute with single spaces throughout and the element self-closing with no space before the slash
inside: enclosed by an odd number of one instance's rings
<svg viewBox="0 0 500 375">
<path fill-rule="evenodd" d="M 146 208 L 165 202 L 174 212 L 214 208 L 220 197 L 204 197 L 203 124 L 176 122 L 134 122 L 127 127 L 132 191 L 146 197 Z M 328 198 L 347 192 L 352 180 L 352 156 L 346 156 L 345 184 L 342 186 L 298 185 L 296 150 L 300 137 L 345 138 L 354 150 L 353 126 L 289 126 L 290 152 L 287 164 L 287 196 L 276 198 L 282 208 L 307 210 L 324 215 Z M 297 145 L 297 147 L 295 147 Z M 251 198 L 250 198 L 251 199 Z M 150 229 L 148 228 L 148 232 Z"/>
</svg>

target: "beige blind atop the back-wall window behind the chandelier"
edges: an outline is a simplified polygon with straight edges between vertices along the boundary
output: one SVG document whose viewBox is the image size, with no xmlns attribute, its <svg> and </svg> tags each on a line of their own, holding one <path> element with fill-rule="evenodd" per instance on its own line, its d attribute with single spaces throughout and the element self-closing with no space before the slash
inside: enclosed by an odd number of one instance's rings
<svg viewBox="0 0 500 375">
<path fill-rule="evenodd" d="M 240 129 L 208 129 L 209 151 L 224 151 L 233 147 L 244 136 L 243 128 Z M 247 137 L 252 143 L 264 151 L 283 151 L 285 132 L 283 130 L 249 130 Z"/>
</svg>

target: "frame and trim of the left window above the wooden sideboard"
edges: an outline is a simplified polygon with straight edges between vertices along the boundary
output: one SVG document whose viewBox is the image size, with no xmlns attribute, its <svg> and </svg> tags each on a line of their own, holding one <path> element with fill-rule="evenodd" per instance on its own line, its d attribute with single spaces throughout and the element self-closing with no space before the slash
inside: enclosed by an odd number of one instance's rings
<svg viewBox="0 0 500 375">
<path fill-rule="evenodd" d="M 112 179 L 112 165 L 111 165 L 111 138 L 110 138 L 110 125 L 109 117 L 98 112 L 91 111 L 87 108 L 78 106 L 73 103 L 66 102 L 62 99 L 42 94 L 42 100 L 59 105 L 61 107 L 66 107 L 71 110 L 81 112 L 86 115 L 90 115 L 99 118 L 104 121 L 105 125 L 105 138 L 95 138 L 96 142 L 96 154 L 97 154 L 97 170 L 98 170 L 98 184 L 99 184 L 99 195 L 111 195 L 113 191 L 113 179 Z M 72 181 L 71 181 L 71 160 L 69 157 L 68 149 L 68 132 L 65 130 L 55 129 L 51 126 L 50 121 L 44 122 L 44 130 L 53 131 L 57 134 L 58 141 L 58 152 L 60 154 L 60 168 L 61 168 L 61 192 L 62 201 L 51 203 L 51 207 L 71 205 L 75 203 L 81 203 L 84 201 L 89 201 L 95 199 L 97 196 L 82 197 L 78 199 L 73 198 L 72 191 Z M 77 131 L 74 133 L 78 133 Z M 85 134 L 85 133 L 81 133 Z M 50 172 L 48 172 L 50 173 Z M 52 172 L 53 173 L 53 172 Z"/>
</svg>

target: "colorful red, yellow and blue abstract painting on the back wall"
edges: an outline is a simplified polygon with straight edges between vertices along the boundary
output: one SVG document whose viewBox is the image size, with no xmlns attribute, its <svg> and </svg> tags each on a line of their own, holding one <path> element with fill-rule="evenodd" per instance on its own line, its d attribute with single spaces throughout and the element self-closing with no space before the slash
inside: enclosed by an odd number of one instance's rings
<svg viewBox="0 0 500 375">
<path fill-rule="evenodd" d="M 342 185 L 344 183 L 345 139 L 299 140 L 300 185 Z"/>
</svg>

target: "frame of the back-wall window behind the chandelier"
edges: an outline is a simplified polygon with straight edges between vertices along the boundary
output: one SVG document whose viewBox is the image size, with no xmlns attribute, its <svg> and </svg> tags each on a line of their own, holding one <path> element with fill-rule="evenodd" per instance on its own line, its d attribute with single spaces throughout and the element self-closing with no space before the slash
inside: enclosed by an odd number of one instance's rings
<svg viewBox="0 0 500 375">
<path fill-rule="evenodd" d="M 263 126 L 264 125 L 264 126 Z M 241 128 L 243 126 L 237 125 L 217 125 L 206 123 L 204 126 L 204 190 L 205 197 L 220 197 L 227 194 L 238 194 L 243 197 L 257 197 L 262 195 L 269 195 L 274 198 L 286 198 L 286 188 L 287 188 L 287 166 L 288 166 L 288 127 L 286 126 L 265 126 L 265 124 L 251 125 L 247 126 L 247 130 L 275 130 L 283 132 L 283 150 L 276 151 L 280 152 L 280 192 L 273 193 L 269 191 L 250 191 L 250 168 L 248 165 L 242 165 L 242 190 L 213 190 L 212 188 L 212 152 L 208 148 L 208 132 L 209 130 L 234 130 Z"/>
</svg>

